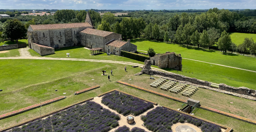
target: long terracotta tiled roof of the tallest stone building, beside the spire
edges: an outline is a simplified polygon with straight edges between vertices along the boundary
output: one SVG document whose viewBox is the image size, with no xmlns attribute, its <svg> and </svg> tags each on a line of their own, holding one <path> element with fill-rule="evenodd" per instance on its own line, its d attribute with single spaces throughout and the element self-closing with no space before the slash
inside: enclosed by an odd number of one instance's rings
<svg viewBox="0 0 256 132">
<path fill-rule="evenodd" d="M 65 24 L 42 24 L 42 25 L 30 25 L 33 30 L 42 29 L 66 29 L 66 28 L 79 28 L 79 27 L 92 27 L 88 22 L 82 23 L 65 23 Z"/>
</svg>

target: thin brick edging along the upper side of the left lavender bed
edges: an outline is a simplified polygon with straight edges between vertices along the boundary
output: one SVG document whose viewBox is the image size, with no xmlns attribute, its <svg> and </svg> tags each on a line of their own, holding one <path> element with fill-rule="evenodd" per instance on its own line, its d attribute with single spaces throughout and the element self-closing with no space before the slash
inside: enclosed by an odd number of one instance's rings
<svg viewBox="0 0 256 132">
<path fill-rule="evenodd" d="M 15 125 L 11 125 L 11 126 L 9 126 L 9 127 L 6 127 L 6 128 L 4 128 L 4 129 L 0 130 L 0 132 L 3 132 L 3 131 L 6 131 L 6 130 L 9 130 L 9 129 L 18 127 L 18 126 L 20 126 L 20 125 L 27 124 L 27 123 L 29 123 L 29 122 L 31 122 L 31 121 L 34 121 L 34 120 L 37 120 L 37 119 L 40 119 L 40 118 L 44 118 L 44 117 L 50 116 L 50 115 L 52 115 L 52 114 L 54 114 L 54 113 L 60 112 L 60 111 L 62 111 L 62 110 L 65 110 L 65 109 L 67 109 L 67 108 L 73 107 L 73 106 L 75 106 L 75 105 L 77 105 L 77 104 L 81 104 L 81 103 L 84 103 L 84 102 L 89 101 L 89 100 L 92 100 L 92 99 L 93 99 L 93 98 L 91 97 L 91 98 L 88 98 L 88 99 L 85 99 L 85 100 L 82 100 L 82 101 L 79 101 L 79 102 L 70 104 L 70 105 L 68 105 L 68 106 L 65 106 L 65 107 L 56 109 L 56 110 L 54 110 L 54 111 L 52 111 L 52 112 L 48 112 L 48 113 L 46 113 L 46 114 L 43 114 L 42 116 L 34 117 L 34 118 L 31 118 L 31 119 L 29 119 L 29 120 L 27 120 L 27 121 L 23 121 L 23 122 L 20 122 L 20 123 L 15 124 Z"/>
</svg>

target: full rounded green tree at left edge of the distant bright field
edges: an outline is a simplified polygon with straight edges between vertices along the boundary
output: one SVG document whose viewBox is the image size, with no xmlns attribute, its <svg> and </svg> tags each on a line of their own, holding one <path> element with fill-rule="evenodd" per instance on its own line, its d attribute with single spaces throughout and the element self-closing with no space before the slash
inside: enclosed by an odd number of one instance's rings
<svg viewBox="0 0 256 132">
<path fill-rule="evenodd" d="M 231 41 L 230 35 L 226 31 L 223 31 L 221 33 L 220 38 L 218 39 L 218 48 L 222 50 L 224 53 L 224 51 L 227 52 L 231 44 L 232 44 L 232 41 Z"/>
</svg>

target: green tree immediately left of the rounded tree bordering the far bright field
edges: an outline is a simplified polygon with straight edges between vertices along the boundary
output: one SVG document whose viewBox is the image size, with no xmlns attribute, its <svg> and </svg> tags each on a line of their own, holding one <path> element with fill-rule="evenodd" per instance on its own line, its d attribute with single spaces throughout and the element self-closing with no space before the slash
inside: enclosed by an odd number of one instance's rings
<svg viewBox="0 0 256 132">
<path fill-rule="evenodd" d="M 213 46 L 215 44 L 215 42 L 217 42 L 218 38 L 220 37 L 220 34 L 218 32 L 218 29 L 215 29 L 215 28 L 208 28 L 207 29 L 207 33 L 208 33 L 208 36 L 209 36 L 209 49 L 211 46 Z"/>
</svg>

